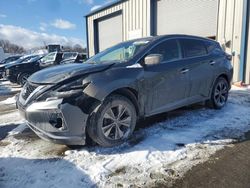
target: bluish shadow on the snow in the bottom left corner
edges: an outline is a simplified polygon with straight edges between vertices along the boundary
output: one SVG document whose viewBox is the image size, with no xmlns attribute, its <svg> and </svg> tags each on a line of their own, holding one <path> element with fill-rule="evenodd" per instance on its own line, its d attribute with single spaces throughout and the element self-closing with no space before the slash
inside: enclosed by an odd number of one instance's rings
<svg viewBox="0 0 250 188">
<path fill-rule="evenodd" d="M 61 158 L 0 158 L 0 187 L 96 187 L 75 164 Z"/>
</svg>

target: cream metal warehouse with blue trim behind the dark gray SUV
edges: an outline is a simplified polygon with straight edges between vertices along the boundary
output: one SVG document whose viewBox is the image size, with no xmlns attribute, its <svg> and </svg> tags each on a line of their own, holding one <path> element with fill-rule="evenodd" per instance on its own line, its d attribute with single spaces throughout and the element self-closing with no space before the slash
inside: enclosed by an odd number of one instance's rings
<svg viewBox="0 0 250 188">
<path fill-rule="evenodd" d="M 249 83 L 249 4 L 248 0 L 117 0 L 86 15 L 88 55 L 154 35 L 216 38 L 235 54 L 234 81 Z"/>
</svg>

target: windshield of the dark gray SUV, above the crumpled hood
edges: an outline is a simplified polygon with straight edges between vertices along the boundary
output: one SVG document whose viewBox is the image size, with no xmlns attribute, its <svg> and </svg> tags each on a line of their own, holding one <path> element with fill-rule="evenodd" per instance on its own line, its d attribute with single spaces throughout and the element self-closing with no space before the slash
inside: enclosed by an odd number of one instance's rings
<svg viewBox="0 0 250 188">
<path fill-rule="evenodd" d="M 149 40 L 140 40 L 120 43 L 93 56 L 85 63 L 105 64 L 110 62 L 127 62 L 143 50 L 149 42 Z"/>
</svg>

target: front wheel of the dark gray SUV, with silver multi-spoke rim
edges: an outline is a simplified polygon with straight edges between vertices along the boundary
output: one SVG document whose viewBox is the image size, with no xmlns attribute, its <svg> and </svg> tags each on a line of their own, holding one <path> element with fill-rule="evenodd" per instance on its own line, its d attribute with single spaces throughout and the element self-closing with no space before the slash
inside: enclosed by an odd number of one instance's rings
<svg viewBox="0 0 250 188">
<path fill-rule="evenodd" d="M 124 96 L 111 95 L 91 114 L 87 132 L 99 145 L 113 147 L 132 135 L 136 121 L 133 103 Z"/>
</svg>

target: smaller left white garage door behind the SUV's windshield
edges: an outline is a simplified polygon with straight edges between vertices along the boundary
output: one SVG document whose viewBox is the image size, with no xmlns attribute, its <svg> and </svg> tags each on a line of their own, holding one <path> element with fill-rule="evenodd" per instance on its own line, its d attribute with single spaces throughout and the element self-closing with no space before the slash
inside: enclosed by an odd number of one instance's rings
<svg viewBox="0 0 250 188">
<path fill-rule="evenodd" d="M 122 42 L 122 14 L 98 21 L 99 52 Z"/>
</svg>

